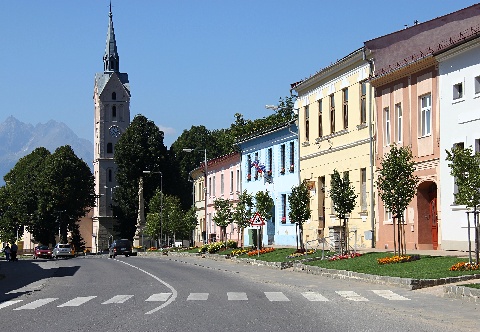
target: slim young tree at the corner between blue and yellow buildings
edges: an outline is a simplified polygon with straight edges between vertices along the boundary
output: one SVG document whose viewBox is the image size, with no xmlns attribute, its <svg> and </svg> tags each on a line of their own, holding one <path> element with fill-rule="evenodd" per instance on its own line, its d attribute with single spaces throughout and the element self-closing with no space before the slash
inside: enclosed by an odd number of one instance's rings
<svg viewBox="0 0 480 332">
<path fill-rule="evenodd" d="M 303 244 L 303 224 L 310 219 L 312 214 L 310 210 L 310 192 L 306 180 L 303 180 L 298 186 L 292 187 L 292 192 L 288 195 L 288 202 L 290 205 L 288 218 L 291 222 L 298 225 L 297 249 L 300 244 L 300 250 L 303 252 L 305 250 Z"/>
</svg>

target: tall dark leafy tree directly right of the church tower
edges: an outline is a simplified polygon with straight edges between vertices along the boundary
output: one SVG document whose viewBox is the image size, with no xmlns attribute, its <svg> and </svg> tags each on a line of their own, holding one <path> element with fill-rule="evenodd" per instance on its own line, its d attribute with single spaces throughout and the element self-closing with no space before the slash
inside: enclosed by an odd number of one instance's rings
<svg viewBox="0 0 480 332">
<path fill-rule="evenodd" d="M 117 164 L 117 183 L 113 211 L 118 220 L 116 231 L 122 238 L 133 238 L 138 213 L 138 185 L 143 171 L 162 172 L 163 178 L 171 178 L 166 166 L 167 149 L 163 144 L 164 133 L 153 121 L 137 115 L 115 145 L 114 159 Z M 146 202 L 161 186 L 160 176 L 150 176 L 144 181 Z M 163 186 L 168 192 L 173 184 Z M 147 210 L 148 213 L 148 205 Z"/>
</svg>

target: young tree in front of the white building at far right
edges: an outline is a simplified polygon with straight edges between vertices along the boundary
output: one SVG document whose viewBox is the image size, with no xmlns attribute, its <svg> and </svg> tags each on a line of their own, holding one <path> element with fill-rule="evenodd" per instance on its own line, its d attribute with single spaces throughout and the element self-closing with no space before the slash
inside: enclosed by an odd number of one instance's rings
<svg viewBox="0 0 480 332">
<path fill-rule="evenodd" d="M 480 206 L 480 154 L 474 153 L 472 148 L 453 147 L 446 150 L 446 160 L 450 163 L 450 175 L 455 179 L 458 191 L 454 193 L 455 204 L 466 205 L 473 208 L 473 220 L 475 229 L 475 260 L 479 264 L 480 253 L 480 223 L 478 220 L 478 208 Z M 470 234 L 470 229 L 468 230 Z M 469 237 L 470 244 L 470 237 Z"/>
</svg>

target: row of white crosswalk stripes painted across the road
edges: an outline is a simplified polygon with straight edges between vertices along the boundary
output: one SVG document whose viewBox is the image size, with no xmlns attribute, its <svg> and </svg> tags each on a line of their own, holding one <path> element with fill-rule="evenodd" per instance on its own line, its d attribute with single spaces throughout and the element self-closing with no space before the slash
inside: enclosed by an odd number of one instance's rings
<svg viewBox="0 0 480 332">
<path fill-rule="evenodd" d="M 213 296 L 211 296 L 213 295 Z M 208 301 L 212 297 L 215 297 L 215 301 L 218 297 L 224 297 L 227 301 L 248 301 L 249 298 L 257 299 L 258 294 L 249 294 L 247 292 L 226 292 L 226 294 L 210 294 L 210 293 L 189 293 L 185 297 L 177 296 L 176 301 L 186 300 L 189 302 L 194 301 Z M 373 300 L 388 300 L 388 301 L 405 301 L 409 298 L 397 294 L 391 290 L 366 290 L 363 294 L 359 294 L 355 291 L 335 291 L 330 292 L 329 295 L 320 294 L 318 292 L 301 292 L 299 293 L 285 294 L 283 292 L 263 292 L 263 298 L 267 302 L 293 302 L 303 299 L 309 302 L 330 302 L 330 301 L 353 301 L 353 302 L 368 302 Z M 124 304 L 131 300 L 135 295 L 132 294 L 118 294 L 108 299 L 100 299 L 99 296 L 78 296 L 72 299 L 60 299 L 56 297 L 48 297 L 37 299 L 28 303 L 24 300 L 9 300 L 0 303 L 0 310 L 6 308 L 12 308 L 13 310 L 35 310 L 47 305 L 54 305 L 57 308 L 64 307 L 80 307 L 87 305 L 94 301 L 98 301 L 101 305 L 113 305 Z M 172 296 L 172 293 L 155 293 L 149 296 L 143 296 L 141 301 L 145 302 L 166 302 Z M 249 297 L 250 296 L 250 297 Z M 138 295 L 136 297 L 139 297 Z"/>
</svg>

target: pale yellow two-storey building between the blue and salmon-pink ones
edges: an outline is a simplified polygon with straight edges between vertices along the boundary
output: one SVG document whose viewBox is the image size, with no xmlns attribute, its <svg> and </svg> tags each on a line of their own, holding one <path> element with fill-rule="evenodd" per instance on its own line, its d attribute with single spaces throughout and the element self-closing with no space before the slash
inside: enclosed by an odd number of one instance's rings
<svg viewBox="0 0 480 332">
<path fill-rule="evenodd" d="M 351 249 L 370 248 L 375 239 L 373 90 L 367 82 L 371 64 L 358 49 L 311 77 L 295 83 L 298 94 L 300 178 L 311 188 L 311 219 L 304 241 L 326 238 L 338 248 L 341 222 L 329 190 L 333 171 L 349 172 L 358 195 L 345 234 Z"/>
</svg>

